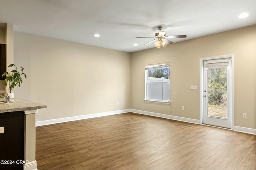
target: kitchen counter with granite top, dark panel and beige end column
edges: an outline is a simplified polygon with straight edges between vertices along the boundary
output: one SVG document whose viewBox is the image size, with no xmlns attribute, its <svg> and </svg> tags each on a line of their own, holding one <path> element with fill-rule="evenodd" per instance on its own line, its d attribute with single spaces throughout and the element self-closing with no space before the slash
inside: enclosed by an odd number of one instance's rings
<svg viewBox="0 0 256 170">
<path fill-rule="evenodd" d="M 2 100 L 5 99 L 0 98 Z M 47 106 L 21 98 L 10 101 L 12 103 L 0 104 L 0 160 L 26 163 L 0 165 L 0 169 L 37 170 L 35 113 Z"/>
</svg>

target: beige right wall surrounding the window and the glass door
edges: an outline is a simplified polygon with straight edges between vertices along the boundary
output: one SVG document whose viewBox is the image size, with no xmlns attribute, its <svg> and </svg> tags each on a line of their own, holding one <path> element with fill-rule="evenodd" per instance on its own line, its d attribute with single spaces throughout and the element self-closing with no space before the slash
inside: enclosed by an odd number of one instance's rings
<svg viewBox="0 0 256 170">
<path fill-rule="evenodd" d="M 131 108 L 199 119 L 199 59 L 234 54 L 234 125 L 256 129 L 255 37 L 256 25 L 167 45 L 161 48 L 161 56 L 156 48 L 132 53 Z M 171 104 L 144 102 L 145 65 L 166 62 L 171 69 Z M 190 85 L 198 90 L 190 90 Z M 247 113 L 246 119 L 242 113 Z"/>
</svg>

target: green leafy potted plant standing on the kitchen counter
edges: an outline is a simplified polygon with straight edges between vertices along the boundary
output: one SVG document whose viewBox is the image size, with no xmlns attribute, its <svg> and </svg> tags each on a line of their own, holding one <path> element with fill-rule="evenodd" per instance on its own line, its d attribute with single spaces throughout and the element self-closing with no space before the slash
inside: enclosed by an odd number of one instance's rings
<svg viewBox="0 0 256 170">
<path fill-rule="evenodd" d="M 23 66 L 17 67 L 15 64 L 10 64 L 8 67 L 15 67 L 15 69 L 12 70 L 12 72 L 10 72 L 10 73 L 7 72 L 7 71 L 4 72 L 4 74 L 2 74 L 2 76 L 6 76 L 6 78 L 4 79 L 4 85 L 9 86 L 9 93 L 12 95 L 12 89 L 14 89 L 14 87 L 16 87 L 17 84 L 20 87 L 20 84 L 22 83 L 22 77 L 21 76 L 24 75 L 24 77 L 26 79 L 27 79 L 27 76 L 23 72 L 24 71 Z M 20 68 L 20 71 L 18 71 L 17 68 Z"/>
</svg>

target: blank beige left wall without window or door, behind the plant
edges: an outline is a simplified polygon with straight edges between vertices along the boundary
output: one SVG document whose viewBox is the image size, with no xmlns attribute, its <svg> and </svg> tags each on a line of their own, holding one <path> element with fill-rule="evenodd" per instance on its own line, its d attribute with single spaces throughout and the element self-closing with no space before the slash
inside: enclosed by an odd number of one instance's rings
<svg viewBox="0 0 256 170">
<path fill-rule="evenodd" d="M 14 32 L 14 63 L 15 97 L 47 105 L 36 121 L 130 109 L 130 53 Z"/>
</svg>

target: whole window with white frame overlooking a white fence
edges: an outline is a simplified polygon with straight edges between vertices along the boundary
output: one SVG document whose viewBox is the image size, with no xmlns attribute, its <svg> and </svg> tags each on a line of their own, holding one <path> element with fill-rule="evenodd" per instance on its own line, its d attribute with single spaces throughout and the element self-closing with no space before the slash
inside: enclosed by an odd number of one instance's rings
<svg viewBox="0 0 256 170">
<path fill-rule="evenodd" d="M 170 103 L 170 63 L 145 66 L 145 101 Z"/>
</svg>

